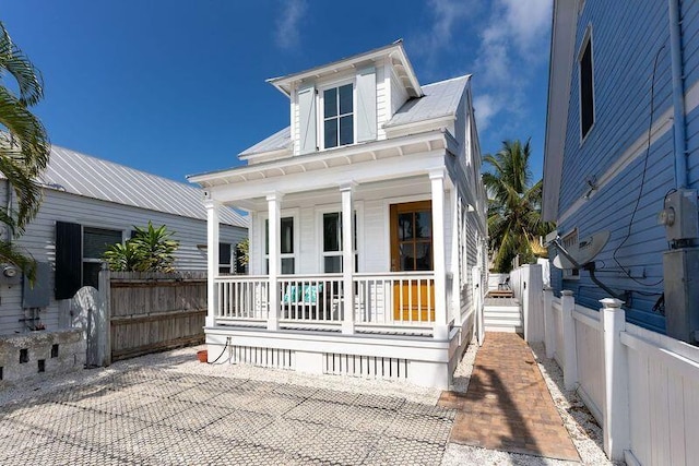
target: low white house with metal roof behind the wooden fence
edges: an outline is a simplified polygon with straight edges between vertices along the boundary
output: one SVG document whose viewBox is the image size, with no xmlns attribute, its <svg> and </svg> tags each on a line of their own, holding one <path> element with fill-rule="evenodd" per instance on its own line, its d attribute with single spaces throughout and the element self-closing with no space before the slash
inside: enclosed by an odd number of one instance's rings
<svg viewBox="0 0 699 466">
<path fill-rule="evenodd" d="M 16 240 L 38 262 L 37 282 L 32 288 L 21 274 L 13 275 L 14 267 L 0 268 L 0 335 L 69 326 L 62 303 L 80 287 L 97 286 L 102 253 L 107 244 L 129 239 L 134 225 L 166 225 L 180 242 L 175 266 L 206 268 L 201 190 L 58 146 L 51 147 L 39 182 L 40 211 Z M 0 202 L 12 202 L 5 180 L 0 180 Z M 225 208 L 221 224 L 222 272 L 230 272 L 247 218 Z"/>
</svg>

